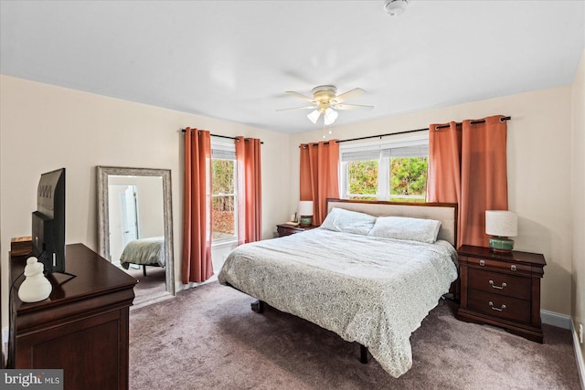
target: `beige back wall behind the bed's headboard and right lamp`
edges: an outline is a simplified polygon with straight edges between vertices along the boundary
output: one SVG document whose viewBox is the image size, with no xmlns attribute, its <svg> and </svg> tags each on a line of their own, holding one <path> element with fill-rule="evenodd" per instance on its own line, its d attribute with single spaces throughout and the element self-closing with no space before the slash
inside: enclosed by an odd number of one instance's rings
<svg viewBox="0 0 585 390">
<path fill-rule="evenodd" d="M 509 208 L 518 214 L 516 249 L 545 255 L 548 265 L 542 280 L 541 308 L 569 315 L 572 240 L 570 86 L 334 127 L 333 135 L 343 140 L 496 114 L 512 117 L 512 121 L 508 121 L 508 185 Z M 351 115 L 351 112 L 340 115 Z M 290 147 L 292 167 L 299 166 L 299 143 L 321 139 L 321 131 L 293 135 Z M 289 214 L 298 203 L 298 168 L 292 171 L 290 186 Z"/>
</svg>

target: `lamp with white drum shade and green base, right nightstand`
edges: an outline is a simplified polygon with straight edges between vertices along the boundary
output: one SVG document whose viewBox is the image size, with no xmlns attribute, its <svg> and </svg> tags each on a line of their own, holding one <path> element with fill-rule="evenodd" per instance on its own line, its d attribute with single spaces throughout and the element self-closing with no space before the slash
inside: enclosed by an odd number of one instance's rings
<svg viewBox="0 0 585 390">
<path fill-rule="evenodd" d="M 485 210 L 485 234 L 495 236 L 490 238 L 490 248 L 493 252 L 511 253 L 514 249 L 514 240 L 507 237 L 516 237 L 517 231 L 516 213 L 507 210 Z"/>
</svg>

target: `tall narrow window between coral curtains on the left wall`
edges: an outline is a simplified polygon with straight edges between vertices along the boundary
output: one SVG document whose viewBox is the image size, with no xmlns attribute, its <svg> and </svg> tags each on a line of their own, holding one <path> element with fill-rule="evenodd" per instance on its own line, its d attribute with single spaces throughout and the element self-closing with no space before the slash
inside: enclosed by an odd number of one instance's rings
<svg viewBox="0 0 585 390">
<path fill-rule="evenodd" d="M 238 237 L 236 149 L 233 143 L 211 142 L 211 230 L 214 243 Z"/>
</svg>

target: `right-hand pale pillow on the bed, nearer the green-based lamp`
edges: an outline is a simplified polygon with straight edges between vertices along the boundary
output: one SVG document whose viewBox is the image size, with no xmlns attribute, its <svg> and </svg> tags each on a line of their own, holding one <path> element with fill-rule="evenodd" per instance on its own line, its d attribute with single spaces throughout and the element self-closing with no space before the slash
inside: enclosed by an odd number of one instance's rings
<svg viewBox="0 0 585 390">
<path fill-rule="evenodd" d="M 410 239 L 432 244 L 437 240 L 441 221 L 407 216 L 378 216 L 369 236 Z"/>
</svg>

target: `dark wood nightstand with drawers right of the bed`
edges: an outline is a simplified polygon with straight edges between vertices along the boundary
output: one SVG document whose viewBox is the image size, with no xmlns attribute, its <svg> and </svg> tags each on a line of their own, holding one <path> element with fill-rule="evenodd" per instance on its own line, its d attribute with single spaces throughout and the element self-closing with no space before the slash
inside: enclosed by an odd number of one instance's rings
<svg viewBox="0 0 585 390">
<path fill-rule="evenodd" d="M 543 342 L 540 324 L 540 279 L 543 255 L 464 245 L 457 251 L 461 279 L 461 321 L 486 323 Z"/>
</svg>

